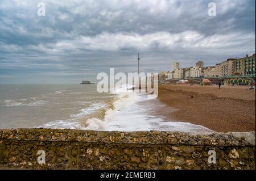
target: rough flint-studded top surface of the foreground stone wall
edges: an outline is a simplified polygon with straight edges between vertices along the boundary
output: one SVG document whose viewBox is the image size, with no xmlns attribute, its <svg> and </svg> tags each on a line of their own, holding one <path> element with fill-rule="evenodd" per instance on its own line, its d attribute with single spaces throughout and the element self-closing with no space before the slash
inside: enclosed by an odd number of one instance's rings
<svg viewBox="0 0 256 181">
<path fill-rule="evenodd" d="M 24 141 L 112 142 L 119 144 L 171 144 L 205 146 L 255 146 L 255 132 L 115 132 L 75 129 L 0 129 L 0 139 Z"/>
</svg>

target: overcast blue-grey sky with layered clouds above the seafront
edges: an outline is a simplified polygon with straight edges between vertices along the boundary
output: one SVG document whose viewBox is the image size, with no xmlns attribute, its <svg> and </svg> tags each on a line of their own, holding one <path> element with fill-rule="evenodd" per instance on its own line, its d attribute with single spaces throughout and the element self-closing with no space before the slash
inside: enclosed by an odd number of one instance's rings
<svg viewBox="0 0 256 181">
<path fill-rule="evenodd" d="M 96 81 L 109 68 L 137 71 L 138 52 L 144 72 L 251 55 L 255 0 L 0 1 L 0 83 Z"/>
</svg>

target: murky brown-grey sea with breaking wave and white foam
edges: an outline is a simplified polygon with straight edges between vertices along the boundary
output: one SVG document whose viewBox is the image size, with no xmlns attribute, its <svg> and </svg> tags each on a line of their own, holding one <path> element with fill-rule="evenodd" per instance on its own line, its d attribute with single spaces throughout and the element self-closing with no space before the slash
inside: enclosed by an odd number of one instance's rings
<svg viewBox="0 0 256 181">
<path fill-rule="evenodd" d="M 212 132 L 166 120 L 157 110 L 170 107 L 130 88 L 99 93 L 97 85 L 0 85 L 0 129 Z"/>
</svg>

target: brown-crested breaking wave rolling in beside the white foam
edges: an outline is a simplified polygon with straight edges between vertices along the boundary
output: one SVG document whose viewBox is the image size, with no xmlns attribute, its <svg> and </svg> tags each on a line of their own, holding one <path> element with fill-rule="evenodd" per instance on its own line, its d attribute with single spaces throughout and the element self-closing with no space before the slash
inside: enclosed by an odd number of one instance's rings
<svg viewBox="0 0 256 181">
<path fill-rule="evenodd" d="M 41 127 L 47 128 L 69 128 L 69 129 L 93 129 L 102 130 L 108 126 L 115 114 L 129 107 L 138 100 L 134 92 L 117 91 L 110 95 L 108 102 L 85 102 L 91 103 L 89 107 L 83 108 L 79 113 L 69 115 L 71 119 L 57 120 L 44 124 Z M 84 102 L 77 102 L 84 103 Z"/>
</svg>

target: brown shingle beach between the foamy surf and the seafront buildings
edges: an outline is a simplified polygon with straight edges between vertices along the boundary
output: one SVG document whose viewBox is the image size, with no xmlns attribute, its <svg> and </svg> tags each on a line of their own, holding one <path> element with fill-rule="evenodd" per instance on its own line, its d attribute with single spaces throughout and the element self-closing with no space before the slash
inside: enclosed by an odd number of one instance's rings
<svg viewBox="0 0 256 181">
<path fill-rule="evenodd" d="M 159 85 L 166 120 L 203 125 L 216 132 L 255 131 L 255 90 L 248 86 Z"/>
</svg>

